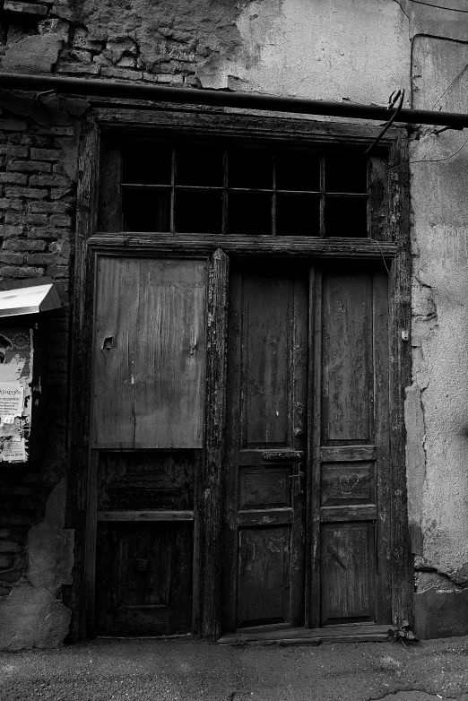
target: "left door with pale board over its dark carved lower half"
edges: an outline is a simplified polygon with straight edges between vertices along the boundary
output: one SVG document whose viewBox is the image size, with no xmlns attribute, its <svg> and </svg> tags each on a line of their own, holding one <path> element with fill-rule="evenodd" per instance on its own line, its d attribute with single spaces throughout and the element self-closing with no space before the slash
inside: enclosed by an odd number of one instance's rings
<svg viewBox="0 0 468 701">
<path fill-rule="evenodd" d="M 90 513 L 98 635 L 192 630 L 205 268 L 98 258 Z"/>
</svg>

